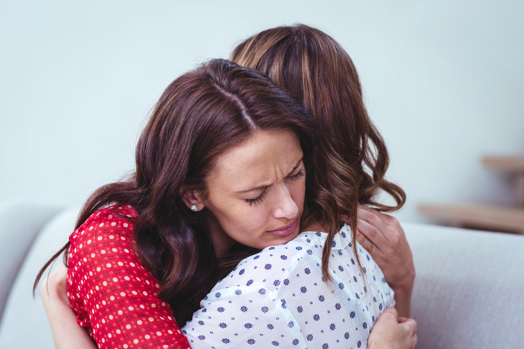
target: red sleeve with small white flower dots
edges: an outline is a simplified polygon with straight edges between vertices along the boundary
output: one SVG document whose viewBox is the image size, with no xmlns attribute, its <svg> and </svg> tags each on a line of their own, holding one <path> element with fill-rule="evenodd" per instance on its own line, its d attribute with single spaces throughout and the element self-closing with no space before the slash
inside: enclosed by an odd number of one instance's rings
<svg viewBox="0 0 524 349">
<path fill-rule="evenodd" d="M 132 217 L 127 206 L 113 211 Z M 70 236 L 68 297 L 77 321 L 99 348 L 190 349 L 158 281 L 134 254 L 133 224 L 110 209 L 95 212 Z"/>
</svg>

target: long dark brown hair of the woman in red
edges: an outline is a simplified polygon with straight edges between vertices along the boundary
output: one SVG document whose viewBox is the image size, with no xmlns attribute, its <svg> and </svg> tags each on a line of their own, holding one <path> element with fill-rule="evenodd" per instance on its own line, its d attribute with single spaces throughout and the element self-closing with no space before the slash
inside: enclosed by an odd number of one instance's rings
<svg viewBox="0 0 524 349">
<path fill-rule="evenodd" d="M 297 134 L 308 187 L 308 169 L 314 168 L 310 154 L 318 138 L 310 111 L 259 71 L 228 60 L 210 60 L 182 74 L 162 93 L 138 140 L 132 178 L 96 190 L 81 210 L 77 228 L 112 203 L 137 210 L 137 255 L 160 281 L 158 296 L 170 303 L 181 325 L 191 319 L 217 281 L 218 261 L 207 210 L 190 211 L 180 192 L 205 193 L 204 179 L 216 156 L 260 129 Z M 237 244 L 230 255 L 242 259 L 257 252 Z M 40 271 L 35 287 L 51 262 Z"/>
</svg>

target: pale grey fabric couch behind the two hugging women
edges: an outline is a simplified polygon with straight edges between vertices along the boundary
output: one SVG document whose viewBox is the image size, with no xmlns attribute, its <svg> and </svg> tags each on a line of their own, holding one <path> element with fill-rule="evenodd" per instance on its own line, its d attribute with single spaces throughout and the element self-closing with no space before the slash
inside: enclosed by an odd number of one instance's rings
<svg viewBox="0 0 524 349">
<path fill-rule="evenodd" d="M 32 282 L 67 242 L 78 212 L 31 201 L 0 206 L 0 348 L 54 348 Z M 524 236 L 402 226 L 417 269 L 417 348 L 523 348 Z"/>
</svg>

